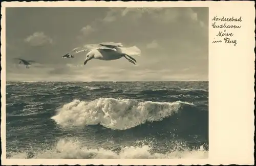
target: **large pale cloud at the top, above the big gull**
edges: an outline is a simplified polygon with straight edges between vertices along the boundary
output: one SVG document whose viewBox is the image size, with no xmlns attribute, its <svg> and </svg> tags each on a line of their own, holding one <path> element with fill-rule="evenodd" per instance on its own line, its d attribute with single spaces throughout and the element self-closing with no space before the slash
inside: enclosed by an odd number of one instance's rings
<svg viewBox="0 0 256 166">
<path fill-rule="evenodd" d="M 200 13 L 197 12 L 191 8 L 108 8 L 102 17 L 93 20 L 81 31 L 84 35 L 88 35 L 96 31 L 95 27 L 97 27 L 95 39 L 101 36 L 101 38 L 109 38 L 118 42 L 123 40 L 121 36 L 125 36 L 123 30 L 129 28 L 133 32 L 130 36 L 126 36 L 129 42 L 137 37 L 140 38 L 137 43 L 144 42 L 144 40 L 151 41 L 156 38 L 168 38 L 170 35 L 173 37 L 174 29 L 181 24 L 185 26 L 184 29 L 191 27 L 191 31 L 197 31 L 198 28 L 204 29 L 204 22 L 199 19 Z M 143 31 L 140 27 L 144 27 Z M 182 31 L 181 29 L 176 31 Z M 153 30 L 155 30 L 154 33 Z M 148 36 L 148 33 L 152 35 Z M 83 36 L 79 35 L 77 39 L 82 42 Z"/>
</svg>

